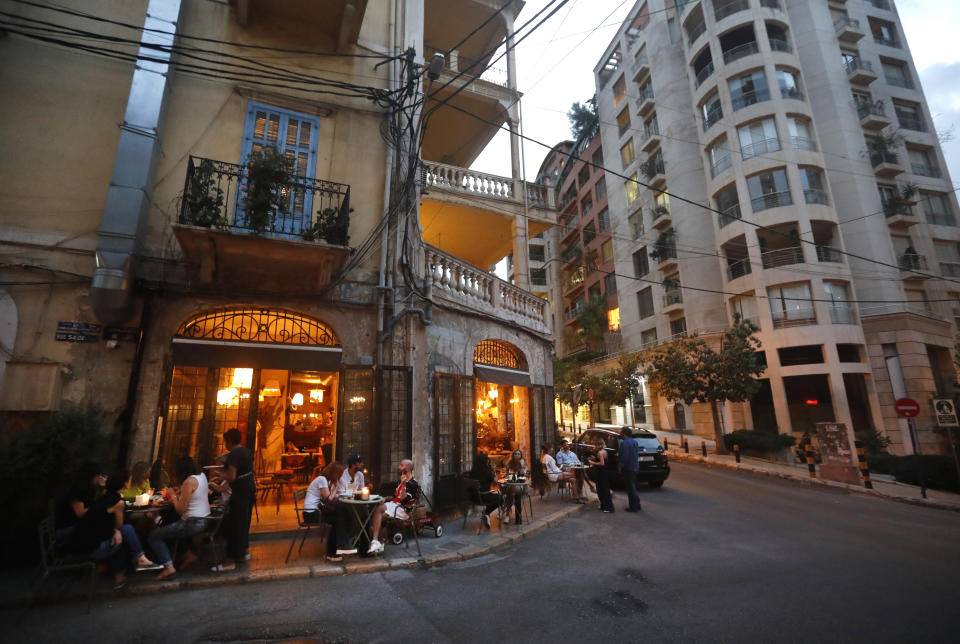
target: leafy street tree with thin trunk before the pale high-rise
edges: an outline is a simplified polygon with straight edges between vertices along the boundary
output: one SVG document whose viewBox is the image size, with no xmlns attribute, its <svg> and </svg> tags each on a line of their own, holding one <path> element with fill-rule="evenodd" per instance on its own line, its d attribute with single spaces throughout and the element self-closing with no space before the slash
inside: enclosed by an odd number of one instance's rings
<svg viewBox="0 0 960 644">
<path fill-rule="evenodd" d="M 658 393 L 671 400 L 710 403 L 717 451 L 725 452 L 720 424 L 720 402 L 744 402 L 760 390 L 756 376 L 763 373 L 757 349 L 758 327 L 734 314 L 733 326 L 714 351 L 699 338 L 679 338 L 640 354 L 649 365 L 647 378 Z"/>
</svg>

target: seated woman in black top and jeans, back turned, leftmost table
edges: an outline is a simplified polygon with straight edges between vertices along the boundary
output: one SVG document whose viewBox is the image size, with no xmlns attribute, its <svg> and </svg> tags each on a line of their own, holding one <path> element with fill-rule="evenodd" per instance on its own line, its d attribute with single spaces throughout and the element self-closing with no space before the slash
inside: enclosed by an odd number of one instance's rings
<svg viewBox="0 0 960 644">
<path fill-rule="evenodd" d="M 128 478 L 130 477 L 126 470 L 114 472 L 107 477 L 106 491 L 83 515 L 67 543 L 70 552 L 106 563 L 113 572 L 113 581 L 117 588 L 123 586 L 126 569 L 125 558 L 117 556 L 121 545 L 137 570 L 160 568 L 143 554 L 133 526 L 123 522 L 125 504 L 120 498 L 120 490 L 127 484 Z"/>
</svg>

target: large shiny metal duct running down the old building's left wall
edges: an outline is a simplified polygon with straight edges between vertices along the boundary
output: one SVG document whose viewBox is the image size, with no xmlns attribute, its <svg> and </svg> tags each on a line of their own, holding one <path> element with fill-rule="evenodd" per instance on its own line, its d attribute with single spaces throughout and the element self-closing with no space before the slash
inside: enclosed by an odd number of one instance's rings
<svg viewBox="0 0 960 644">
<path fill-rule="evenodd" d="M 173 45 L 181 0 L 150 0 L 140 42 Z M 146 31 L 146 29 L 159 30 Z M 141 56 L 169 61 L 170 53 L 140 47 Z M 170 93 L 170 65 L 139 61 L 133 72 L 110 189 L 97 235 L 90 301 L 97 318 L 121 324 L 134 311 L 136 255 L 150 214 L 160 155 L 160 129 Z"/>
</svg>

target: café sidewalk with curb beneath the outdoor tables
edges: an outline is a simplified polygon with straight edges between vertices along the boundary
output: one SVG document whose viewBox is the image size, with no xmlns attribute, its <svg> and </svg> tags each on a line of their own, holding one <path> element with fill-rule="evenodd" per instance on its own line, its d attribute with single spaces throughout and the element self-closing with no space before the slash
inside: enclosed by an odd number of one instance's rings
<svg viewBox="0 0 960 644">
<path fill-rule="evenodd" d="M 167 581 L 155 581 L 156 572 L 131 573 L 127 575 L 127 585 L 120 591 L 112 588 L 112 580 L 101 577 L 97 580 L 94 596 L 99 599 L 123 596 L 154 595 L 178 590 L 209 588 L 227 584 L 251 583 L 275 579 L 305 579 L 308 577 L 327 577 L 356 573 L 380 572 L 398 568 L 417 566 L 438 566 L 454 561 L 464 561 L 482 557 L 493 551 L 509 547 L 521 539 L 542 532 L 557 525 L 568 516 L 593 507 L 591 504 L 573 503 L 561 499 L 556 492 L 547 494 L 542 500 L 533 493 L 533 518 L 524 517 L 522 525 L 513 523 L 501 525 L 496 513 L 492 515 L 491 529 L 484 528 L 477 534 L 480 515 L 471 513 L 466 526 L 463 515 L 445 518 L 443 536 L 436 538 L 427 528 L 420 535 L 422 559 L 417 558 L 416 543 L 394 546 L 385 544 L 382 555 L 374 557 L 345 556 L 339 563 L 324 561 L 323 547 L 318 538 L 319 532 L 312 531 L 307 536 L 303 551 L 297 553 L 293 548 L 289 563 L 285 563 L 294 531 L 251 535 L 250 555 L 247 565 L 239 566 L 234 572 L 214 573 L 210 571 L 209 555 L 204 551 L 189 570 L 178 571 L 176 577 Z M 529 509 L 524 504 L 524 514 Z M 86 600 L 89 581 L 85 575 L 69 573 L 53 574 L 40 583 L 38 567 L 7 571 L 0 578 L 0 608 L 27 606 L 32 602 L 56 603 L 73 600 Z"/>
</svg>

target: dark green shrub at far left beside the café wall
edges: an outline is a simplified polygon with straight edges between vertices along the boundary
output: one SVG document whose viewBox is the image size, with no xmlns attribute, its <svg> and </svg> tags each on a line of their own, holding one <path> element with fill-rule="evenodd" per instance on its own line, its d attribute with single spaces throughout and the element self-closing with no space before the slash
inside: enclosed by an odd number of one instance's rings
<svg viewBox="0 0 960 644">
<path fill-rule="evenodd" d="M 116 462 L 116 433 L 93 408 L 70 408 L 33 423 L 0 442 L 0 557 L 4 565 L 28 563 L 37 548 L 37 522 L 69 486 L 77 470 L 95 462 L 109 472 Z"/>
</svg>

